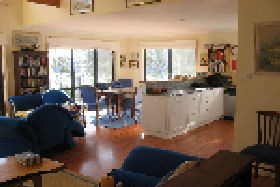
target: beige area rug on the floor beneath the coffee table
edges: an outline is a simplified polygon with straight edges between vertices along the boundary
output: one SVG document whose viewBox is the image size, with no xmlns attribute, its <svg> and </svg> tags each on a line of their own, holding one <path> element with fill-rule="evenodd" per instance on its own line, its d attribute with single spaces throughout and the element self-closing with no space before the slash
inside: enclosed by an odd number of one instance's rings
<svg viewBox="0 0 280 187">
<path fill-rule="evenodd" d="M 31 180 L 24 182 L 23 185 L 34 186 Z M 58 173 L 43 174 L 42 187 L 99 187 L 99 181 L 65 169 Z"/>
</svg>

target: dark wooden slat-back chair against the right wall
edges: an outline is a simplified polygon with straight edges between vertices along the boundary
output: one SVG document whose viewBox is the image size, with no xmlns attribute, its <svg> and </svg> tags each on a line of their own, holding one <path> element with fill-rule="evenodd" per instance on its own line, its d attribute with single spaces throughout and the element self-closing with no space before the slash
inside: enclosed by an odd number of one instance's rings
<svg viewBox="0 0 280 187">
<path fill-rule="evenodd" d="M 258 144 L 248 146 L 241 153 L 256 157 L 255 177 L 258 169 L 275 173 L 275 186 L 280 186 L 280 113 L 276 111 L 257 111 Z M 274 165 L 275 170 L 260 166 L 260 163 Z"/>
</svg>

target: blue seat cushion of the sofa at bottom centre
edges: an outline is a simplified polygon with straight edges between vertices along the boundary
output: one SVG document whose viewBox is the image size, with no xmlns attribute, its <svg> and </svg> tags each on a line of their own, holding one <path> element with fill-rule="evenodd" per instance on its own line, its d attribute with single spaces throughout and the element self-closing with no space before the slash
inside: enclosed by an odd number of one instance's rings
<svg viewBox="0 0 280 187">
<path fill-rule="evenodd" d="M 112 171 L 115 184 L 123 182 L 123 186 L 133 187 L 154 187 L 160 182 L 160 178 L 153 176 L 147 176 L 141 173 L 133 173 L 131 171 L 125 171 L 123 169 L 117 169 Z"/>
</svg>

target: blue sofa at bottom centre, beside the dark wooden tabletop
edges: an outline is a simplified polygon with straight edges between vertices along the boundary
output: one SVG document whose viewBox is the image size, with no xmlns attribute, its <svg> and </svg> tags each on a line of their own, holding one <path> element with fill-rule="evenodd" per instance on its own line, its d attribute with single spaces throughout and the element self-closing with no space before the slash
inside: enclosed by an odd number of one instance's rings
<svg viewBox="0 0 280 187">
<path fill-rule="evenodd" d="M 137 146 L 129 153 L 122 167 L 112 170 L 110 175 L 115 184 L 122 182 L 124 187 L 154 187 L 181 163 L 197 159 L 203 160 L 171 150 Z"/>
</svg>

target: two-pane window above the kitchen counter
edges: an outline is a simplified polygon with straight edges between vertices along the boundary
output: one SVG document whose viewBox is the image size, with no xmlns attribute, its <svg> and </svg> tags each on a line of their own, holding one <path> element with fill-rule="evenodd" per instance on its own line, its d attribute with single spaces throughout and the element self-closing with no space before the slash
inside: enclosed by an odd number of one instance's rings
<svg viewBox="0 0 280 187">
<path fill-rule="evenodd" d="M 195 49 L 144 49 L 144 78 L 167 81 L 175 75 L 195 76 Z"/>
</svg>

